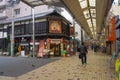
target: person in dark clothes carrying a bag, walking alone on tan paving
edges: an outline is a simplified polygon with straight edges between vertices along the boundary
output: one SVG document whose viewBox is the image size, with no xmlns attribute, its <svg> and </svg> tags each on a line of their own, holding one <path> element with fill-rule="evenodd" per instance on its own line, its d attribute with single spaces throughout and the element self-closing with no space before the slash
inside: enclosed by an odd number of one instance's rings
<svg viewBox="0 0 120 80">
<path fill-rule="evenodd" d="M 82 42 L 79 49 L 80 49 L 79 50 L 80 51 L 79 55 L 81 56 L 81 62 L 82 62 L 82 64 L 86 64 L 87 63 L 86 54 L 88 53 L 88 51 L 87 51 L 87 47 L 84 45 L 84 42 Z"/>
</svg>

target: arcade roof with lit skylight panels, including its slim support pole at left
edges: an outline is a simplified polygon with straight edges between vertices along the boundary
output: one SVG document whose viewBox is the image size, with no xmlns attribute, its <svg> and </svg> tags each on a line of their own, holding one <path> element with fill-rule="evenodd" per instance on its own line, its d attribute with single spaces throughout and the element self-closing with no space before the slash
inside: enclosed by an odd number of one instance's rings
<svg viewBox="0 0 120 80">
<path fill-rule="evenodd" d="M 21 0 L 33 10 L 33 43 L 35 43 L 34 35 L 34 8 L 40 5 L 48 5 L 65 8 L 73 17 L 73 26 L 75 22 L 81 25 L 85 33 L 93 38 L 99 38 L 105 20 L 111 8 L 113 0 Z M 81 35 L 83 36 L 83 35 Z M 82 40 L 82 37 L 81 37 Z M 34 53 L 34 44 L 33 44 Z"/>
</svg>

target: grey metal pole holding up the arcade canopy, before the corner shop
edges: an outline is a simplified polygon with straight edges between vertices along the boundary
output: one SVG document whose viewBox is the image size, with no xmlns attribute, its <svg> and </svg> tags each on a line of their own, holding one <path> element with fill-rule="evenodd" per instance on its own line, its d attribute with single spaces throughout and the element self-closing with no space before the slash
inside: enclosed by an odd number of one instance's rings
<svg viewBox="0 0 120 80">
<path fill-rule="evenodd" d="M 32 8 L 32 19 L 33 19 L 33 57 L 35 57 L 35 14 L 34 14 L 34 8 Z"/>
</svg>

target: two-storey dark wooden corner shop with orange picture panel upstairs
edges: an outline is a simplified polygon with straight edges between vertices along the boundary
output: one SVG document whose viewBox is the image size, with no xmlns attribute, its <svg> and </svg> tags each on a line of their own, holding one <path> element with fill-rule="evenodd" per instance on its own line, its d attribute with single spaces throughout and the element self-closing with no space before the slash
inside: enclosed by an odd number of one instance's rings
<svg viewBox="0 0 120 80">
<path fill-rule="evenodd" d="M 11 23 L 2 24 L 7 26 L 7 38 L 11 37 Z M 53 56 L 61 56 L 61 51 L 66 49 L 69 44 L 70 23 L 56 11 L 47 12 L 46 14 L 35 15 L 35 54 L 37 57 L 43 57 L 46 50 L 50 51 Z M 16 19 L 15 28 L 15 45 L 14 54 L 16 52 L 25 51 L 25 55 L 32 53 L 33 49 L 33 28 L 32 18 Z M 10 40 L 7 43 L 6 49 L 10 48 Z M 2 48 L 2 47 L 1 47 Z"/>
</svg>

